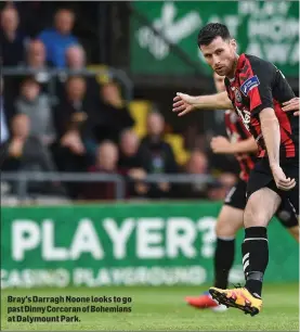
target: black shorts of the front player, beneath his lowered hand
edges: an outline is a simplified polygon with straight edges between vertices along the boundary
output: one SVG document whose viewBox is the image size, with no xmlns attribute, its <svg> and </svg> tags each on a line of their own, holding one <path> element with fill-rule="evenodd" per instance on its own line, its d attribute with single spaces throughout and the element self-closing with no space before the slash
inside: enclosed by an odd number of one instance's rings
<svg viewBox="0 0 300 332">
<path fill-rule="evenodd" d="M 273 179 L 273 175 L 269 165 L 268 158 L 262 158 L 256 163 L 255 168 L 250 173 L 250 178 L 247 186 L 247 200 L 252 193 L 262 189 L 270 188 L 275 191 L 283 201 L 287 201 L 289 205 L 295 209 L 295 213 L 299 216 L 299 161 L 287 159 L 281 163 L 285 175 L 290 178 L 295 178 L 296 186 L 289 190 L 279 190 Z"/>
</svg>

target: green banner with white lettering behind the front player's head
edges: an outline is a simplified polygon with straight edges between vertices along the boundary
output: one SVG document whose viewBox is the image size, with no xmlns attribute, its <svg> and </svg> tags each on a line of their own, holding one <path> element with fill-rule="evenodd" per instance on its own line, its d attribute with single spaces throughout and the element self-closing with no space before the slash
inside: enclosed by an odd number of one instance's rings
<svg viewBox="0 0 300 332">
<path fill-rule="evenodd" d="M 132 5 L 204 74 L 211 71 L 198 50 L 197 35 L 207 23 L 220 22 L 237 39 L 239 52 L 274 63 L 288 77 L 299 75 L 298 1 L 133 1 Z M 130 28 L 133 74 L 195 74 L 134 13 Z"/>
</svg>

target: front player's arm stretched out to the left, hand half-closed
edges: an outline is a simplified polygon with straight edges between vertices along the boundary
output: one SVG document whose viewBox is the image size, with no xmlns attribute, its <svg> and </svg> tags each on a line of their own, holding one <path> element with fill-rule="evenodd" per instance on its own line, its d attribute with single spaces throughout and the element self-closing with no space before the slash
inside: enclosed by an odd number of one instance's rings
<svg viewBox="0 0 300 332">
<path fill-rule="evenodd" d="M 196 110 L 229 110 L 233 108 L 227 92 L 220 92 L 207 95 L 190 95 L 178 92 L 173 99 L 173 112 L 179 112 L 179 116 L 185 115 Z"/>
</svg>

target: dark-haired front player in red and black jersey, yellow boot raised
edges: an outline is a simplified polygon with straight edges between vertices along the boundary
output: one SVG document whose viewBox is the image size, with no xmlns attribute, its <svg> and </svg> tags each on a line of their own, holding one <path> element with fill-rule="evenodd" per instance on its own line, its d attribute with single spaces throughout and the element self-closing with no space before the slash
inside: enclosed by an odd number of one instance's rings
<svg viewBox="0 0 300 332">
<path fill-rule="evenodd" d="M 269 261 L 268 224 L 285 200 L 299 215 L 299 118 L 282 108 L 295 94 L 272 63 L 253 55 L 238 55 L 236 40 L 223 24 L 206 25 L 199 31 L 198 47 L 212 69 L 225 76 L 227 95 L 222 92 L 194 97 L 196 105 L 223 108 L 226 104 L 229 108 L 232 103 L 258 143 L 258 162 L 247 183 L 244 212 L 242 252 L 246 284 L 209 290 L 219 303 L 253 316 L 262 308 L 263 274 Z M 193 108 L 184 98 L 178 94 L 174 111 L 187 113 Z"/>
</svg>

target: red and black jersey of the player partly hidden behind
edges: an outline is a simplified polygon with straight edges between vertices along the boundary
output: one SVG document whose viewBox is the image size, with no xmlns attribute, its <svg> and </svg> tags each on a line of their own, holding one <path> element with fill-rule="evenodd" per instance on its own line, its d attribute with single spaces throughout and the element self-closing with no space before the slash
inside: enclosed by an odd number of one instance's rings
<svg viewBox="0 0 300 332">
<path fill-rule="evenodd" d="M 251 137 L 251 133 L 245 128 L 243 120 L 234 111 L 229 110 L 225 112 L 225 126 L 232 143 L 240 142 Z M 255 167 L 256 155 L 251 153 L 237 153 L 235 157 L 240 167 L 240 179 L 248 181 L 250 170 Z"/>
</svg>

